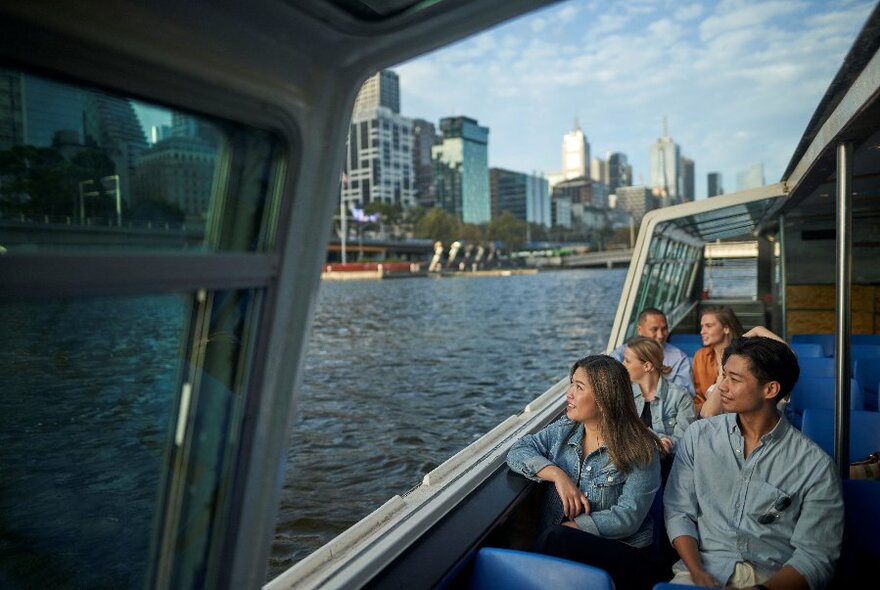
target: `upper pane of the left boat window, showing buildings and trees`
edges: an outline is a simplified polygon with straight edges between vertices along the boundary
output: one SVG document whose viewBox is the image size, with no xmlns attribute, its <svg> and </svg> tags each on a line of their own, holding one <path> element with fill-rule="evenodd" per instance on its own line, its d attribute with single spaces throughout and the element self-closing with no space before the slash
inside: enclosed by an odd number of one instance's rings
<svg viewBox="0 0 880 590">
<path fill-rule="evenodd" d="M 279 152 L 265 131 L 0 68 L 0 247 L 266 251 Z"/>
</svg>

